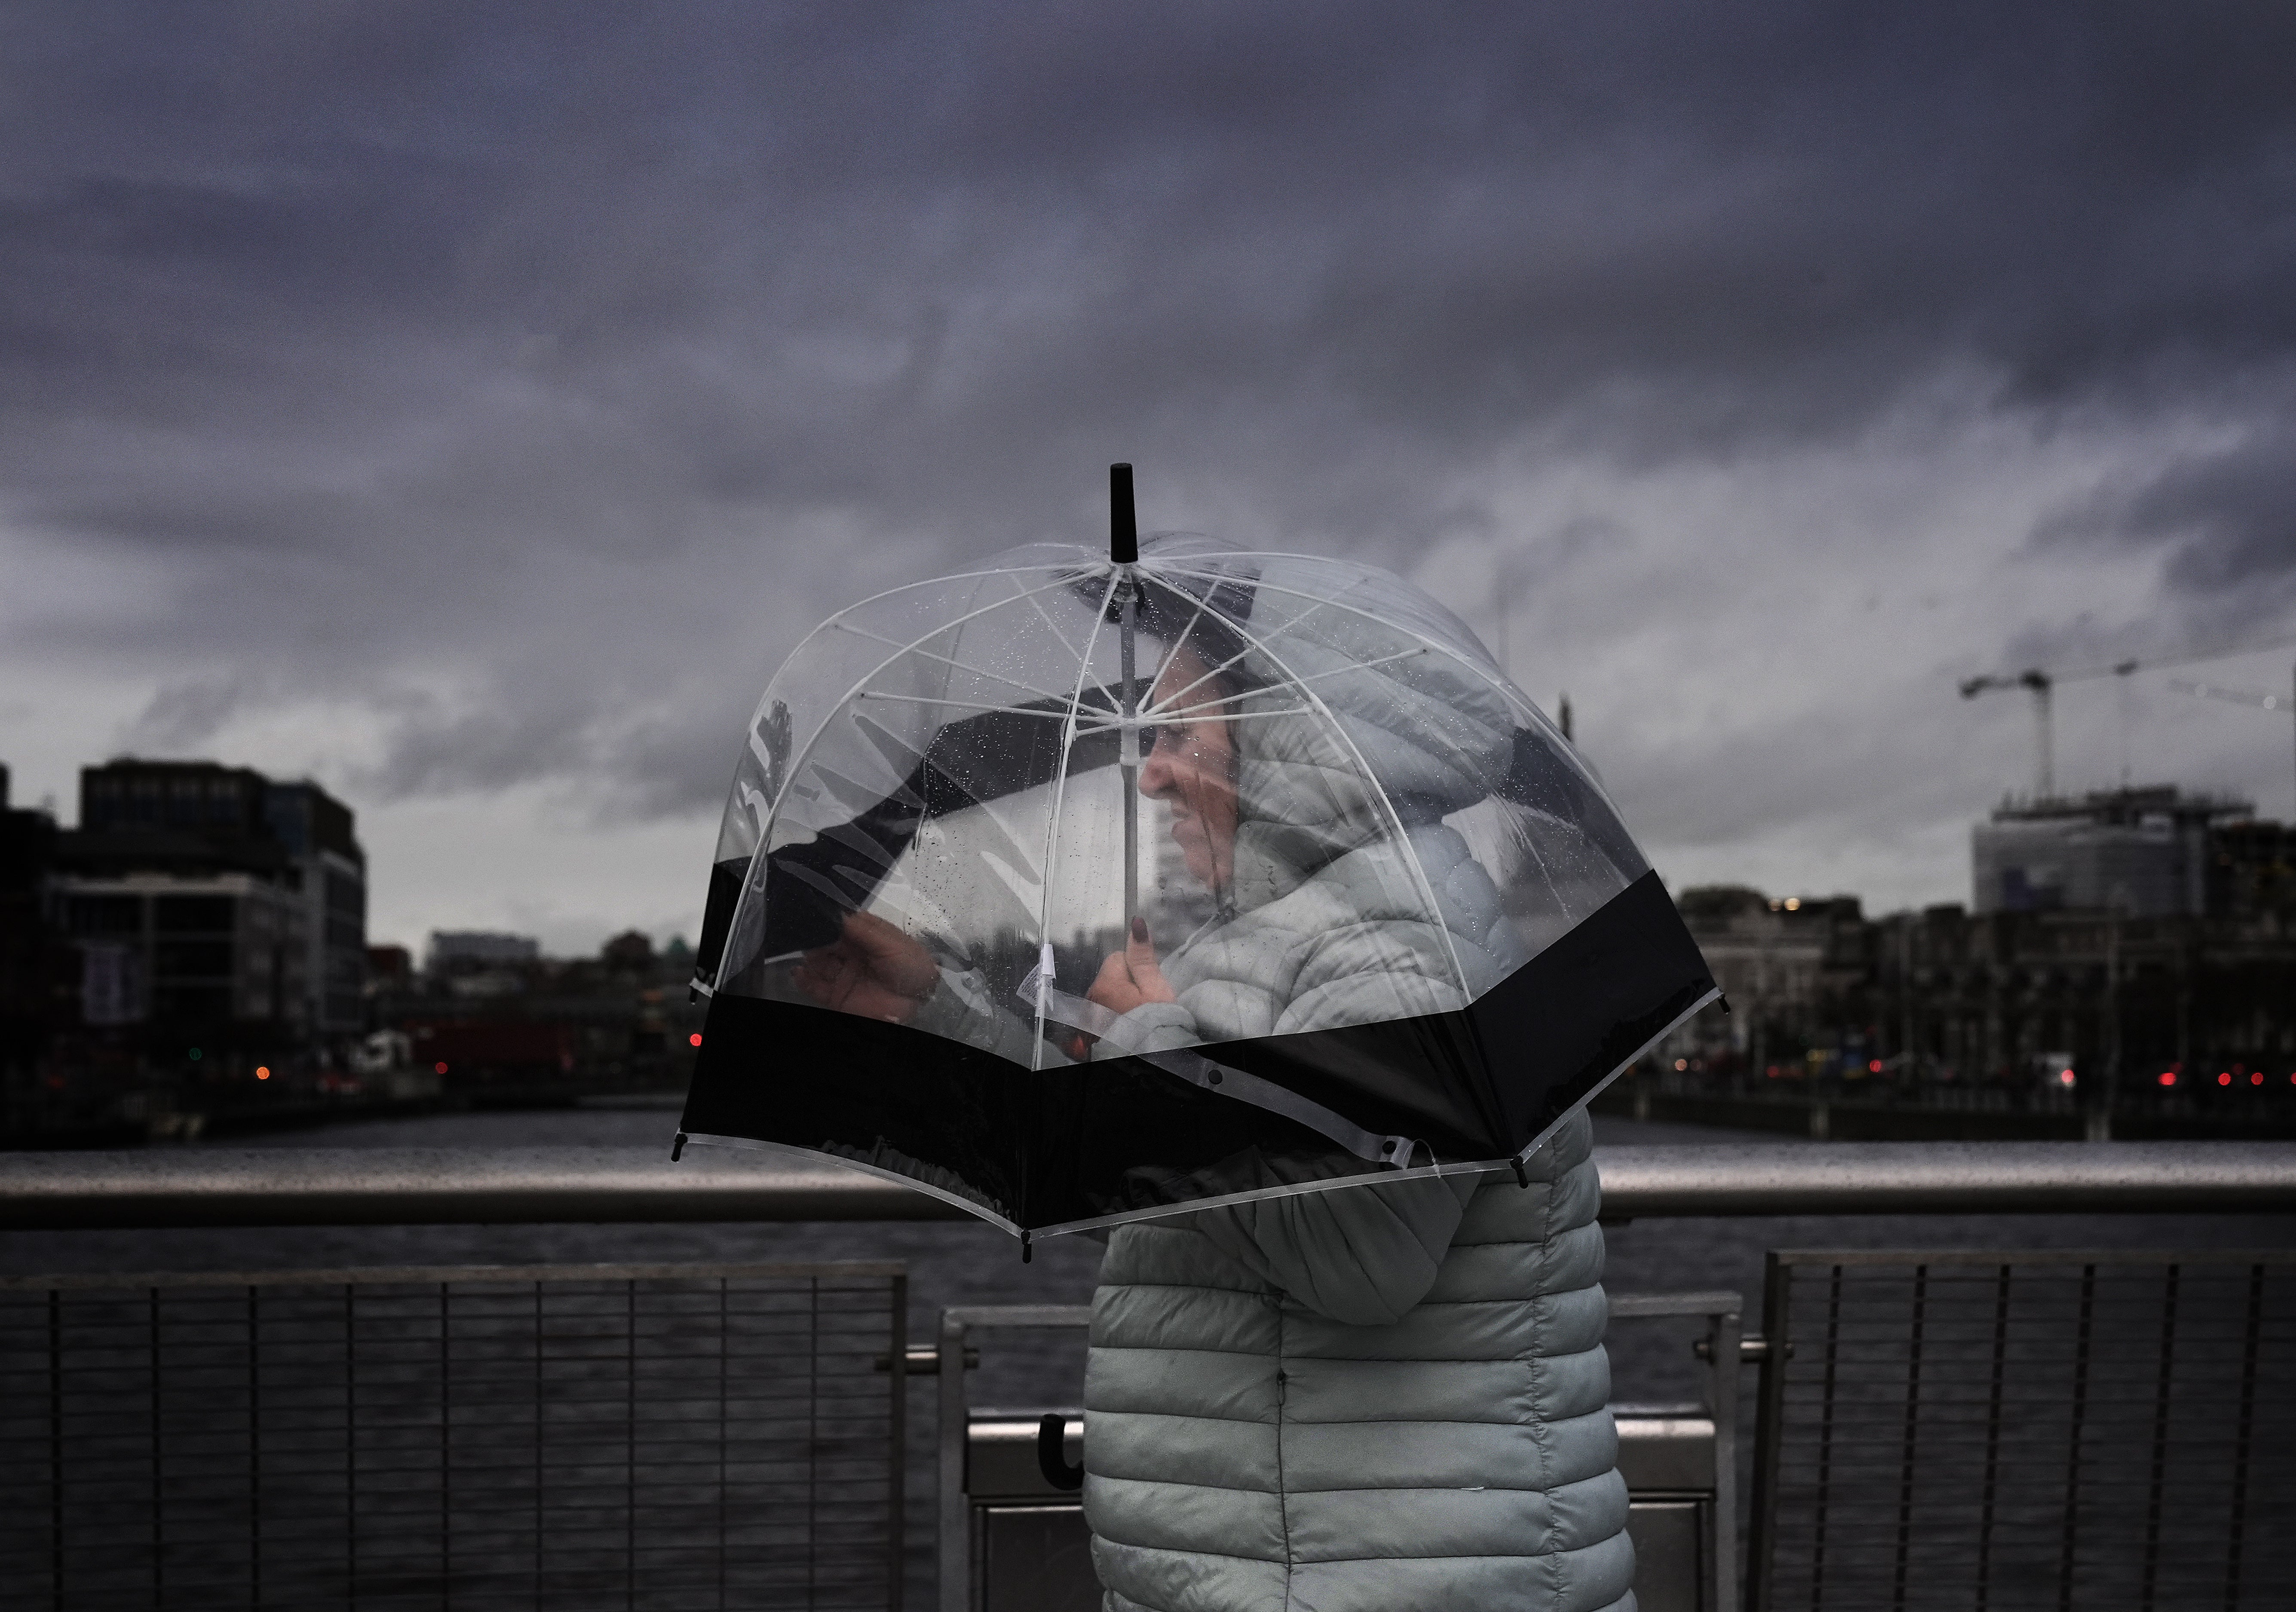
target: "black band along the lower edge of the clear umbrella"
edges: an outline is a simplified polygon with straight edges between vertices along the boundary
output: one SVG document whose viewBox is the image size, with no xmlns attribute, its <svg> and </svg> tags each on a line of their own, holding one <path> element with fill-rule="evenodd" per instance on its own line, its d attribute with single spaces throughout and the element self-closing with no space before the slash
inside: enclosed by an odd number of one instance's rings
<svg viewBox="0 0 2296 1612">
<path fill-rule="evenodd" d="M 1465 1010 L 1196 1054 L 1437 1160 L 1504 1160 L 1711 990 L 1649 873 Z M 730 992 L 709 1001 L 680 1127 L 891 1169 L 1033 1229 L 1389 1173 L 1148 1059 L 1029 1070 L 905 1024 Z"/>
</svg>

